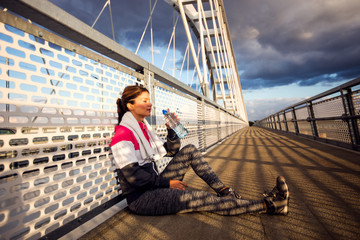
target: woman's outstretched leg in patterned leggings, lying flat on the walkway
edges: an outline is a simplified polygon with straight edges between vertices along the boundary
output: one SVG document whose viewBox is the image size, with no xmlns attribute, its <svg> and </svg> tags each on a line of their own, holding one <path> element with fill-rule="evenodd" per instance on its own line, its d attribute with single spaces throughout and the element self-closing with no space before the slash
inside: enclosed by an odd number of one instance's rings
<svg viewBox="0 0 360 240">
<path fill-rule="evenodd" d="M 264 212 L 263 200 L 221 198 L 206 191 L 183 191 L 158 188 L 147 191 L 129 205 L 140 215 L 157 216 L 185 212 L 213 212 L 219 215 L 239 215 Z"/>
</svg>

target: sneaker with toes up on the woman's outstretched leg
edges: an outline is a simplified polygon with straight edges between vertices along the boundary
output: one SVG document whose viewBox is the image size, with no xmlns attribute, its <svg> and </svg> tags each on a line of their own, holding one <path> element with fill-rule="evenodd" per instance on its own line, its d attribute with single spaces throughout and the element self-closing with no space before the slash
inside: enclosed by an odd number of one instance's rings
<svg viewBox="0 0 360 240">
<path fill-rule="evenodd" d="M 268 214 L 287 215 L 289 212 L 290 192 L 283 176 L 278 176 L 276 186 L 264 194 Z"/>
</svg>

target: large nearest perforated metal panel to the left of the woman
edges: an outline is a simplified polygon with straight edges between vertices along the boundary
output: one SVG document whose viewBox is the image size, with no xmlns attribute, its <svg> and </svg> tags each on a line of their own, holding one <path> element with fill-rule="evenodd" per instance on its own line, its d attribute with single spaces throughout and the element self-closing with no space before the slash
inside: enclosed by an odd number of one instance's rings
<svg viewBox="0 0 360 240">
<path fill-rule="evenodd" d="M 118 195 L 115 102 L 137 80 L 0 29 L 0 234 L 38 238 Z"/>
</svg>

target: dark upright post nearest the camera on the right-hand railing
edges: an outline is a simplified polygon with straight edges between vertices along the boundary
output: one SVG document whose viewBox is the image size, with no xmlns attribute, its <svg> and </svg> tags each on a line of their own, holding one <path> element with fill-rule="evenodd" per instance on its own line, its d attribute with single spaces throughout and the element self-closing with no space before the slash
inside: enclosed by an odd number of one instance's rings
<svg viewBox="0 0 360 240">
<path fill-rule="evenodd" d="M 342 89 L 341 90 L 341 97 L 344 104 L 344 112 L 345 116 L 347 117 L 354 117 L 355 110 L 354 110 L 354 102 L 352 99 L 352 91 L 351 88 Z M 359 128 L 357 125 L 357 120 L 355 118 L 346 119 L 349 127 L 349 133 L 351 137 L 351 143 L 360 145 L 360 137 L 359 137 Z"/>
</svg>

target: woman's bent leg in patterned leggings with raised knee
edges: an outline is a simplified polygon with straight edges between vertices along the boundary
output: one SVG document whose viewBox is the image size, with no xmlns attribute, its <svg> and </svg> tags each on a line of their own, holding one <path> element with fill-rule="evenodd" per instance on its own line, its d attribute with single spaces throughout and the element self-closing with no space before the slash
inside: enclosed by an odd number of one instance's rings
<svg viewBox="0 0 360 240">
<path fill-rule="evenodd" d="M 215 192 L 219 192 L 225 185 L 216 176 L 209 166 L 209 163 L 203 160 L 201 152 L 192 144 L 183 147 L 170 161 L 164 171 L 161 173 L 163 178 L 169 180 L 183 180 L 185 173 L 192 167 L 194 172 L 203 179 Z"/>
</svg>

